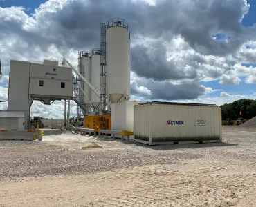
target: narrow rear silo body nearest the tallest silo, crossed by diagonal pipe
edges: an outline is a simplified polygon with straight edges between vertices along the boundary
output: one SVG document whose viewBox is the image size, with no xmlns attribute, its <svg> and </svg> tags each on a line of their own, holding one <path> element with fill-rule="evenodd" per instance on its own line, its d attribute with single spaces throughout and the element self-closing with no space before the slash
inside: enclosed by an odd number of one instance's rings
<svg viewBox="0 0 256 207">
<path fill-rule="evenodd" d="M 91 57 L 91 85 L 100 91 L 100 55 Z M 100 103 L 100 98 L 91 92 L 91 102 Z"/>
</svg>

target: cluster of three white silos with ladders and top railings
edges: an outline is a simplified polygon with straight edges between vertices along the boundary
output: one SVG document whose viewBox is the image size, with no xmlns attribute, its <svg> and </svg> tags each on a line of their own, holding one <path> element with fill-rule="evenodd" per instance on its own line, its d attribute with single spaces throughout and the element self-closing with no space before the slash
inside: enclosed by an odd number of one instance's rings
<svg viewBox="0 0 256 207">
<path fill-rule="evenodd" d="M 89 52 L 79 51 L 78 68 L 80 74 L 105 99 L 99 98 L 81 79 L 80 102 L 84 101 L 86 112 L 110 110 L 111 103 L 129 100 L 130 97 L 130 34 L 125 19 L 109 19 L 102 24 L 100 49 Z M 102 61 L 104 59 L 104 61 Z M 102 77 L 103 76 L 103 77 Z M 102 79 L 104 81 L 102 81 Z M 101 83 L 104 82 L 104 83 Z M 107 100 L 106 100 L 107 99 Z M 104 100 L 106 106 L 100 105 Z M 94 108 L 91 107 L 91 103 Z M 102 106 L 102 107 L 101 107 Z M 104 108 L 104 110 L 103 110 Z"/>
</svg>

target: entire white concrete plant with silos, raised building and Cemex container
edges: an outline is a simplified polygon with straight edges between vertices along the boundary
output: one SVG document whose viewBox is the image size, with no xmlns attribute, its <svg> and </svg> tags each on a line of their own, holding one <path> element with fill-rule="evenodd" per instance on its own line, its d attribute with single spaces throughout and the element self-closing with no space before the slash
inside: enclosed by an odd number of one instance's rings
<svg viewBox="0 0 256 207">
<path fill-rule="evenodd" d="M 79 106 L 77 122 L 82 110 L 84 128 L 93 132 L 134 131 L 135 140 L 146 144 L 221 139 L 219 107 L 129 101 L 130 34 L 125 19 L 101 24 L 100 49 L 79 51 L 77 68 L 66 58 L 62 67 L 55 61 L 10 61 L 8 110 L 24 112 L 26 128 L 34 100 L 51 104 L 61 99 L 65 119 L 70 114 L 68 107 L 66 116 L 66 100 L 73 99 Z"/>
</svg>

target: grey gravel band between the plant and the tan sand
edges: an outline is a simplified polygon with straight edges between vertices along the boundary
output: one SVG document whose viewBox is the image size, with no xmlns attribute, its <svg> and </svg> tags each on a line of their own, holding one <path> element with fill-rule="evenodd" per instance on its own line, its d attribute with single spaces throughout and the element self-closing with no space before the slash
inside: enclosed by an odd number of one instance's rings
<svg viewBox="0 0 256 207">
<path fill-rule="evenodd" d="M 234 128 L 223 132 L 223 144 L 185 144 L 63 151 L 36 141 L 0 141 L 0 179 L 44 175 L 86 174 L 154 164 L 176 164 L 185 159 L 226 157 L 255 159 L 255 132 Z"/>
</svg>

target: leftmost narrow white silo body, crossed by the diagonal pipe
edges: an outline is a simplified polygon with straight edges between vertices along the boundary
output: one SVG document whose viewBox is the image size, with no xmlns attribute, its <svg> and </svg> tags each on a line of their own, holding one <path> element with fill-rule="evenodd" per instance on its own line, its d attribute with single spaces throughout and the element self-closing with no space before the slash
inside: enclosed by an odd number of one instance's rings
<svg viewBox="0 0 256 207">
<path fill-rule="evenodd" d="M 84 78 L 91 83 L 91 57 L 82 57 L 82 65 L 84 66 Z M 92 91 L 86 83 L 84 83 L 84 92 L 91 101 Z M 84 97 L 84 102 L 89 103 L 86 97 Z"/>
</svg>

